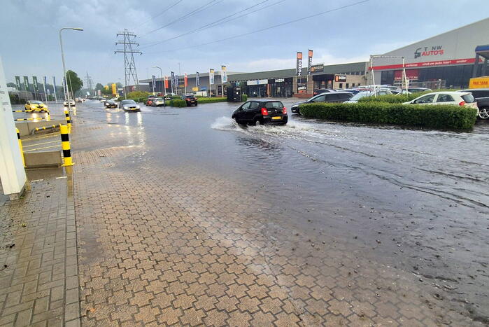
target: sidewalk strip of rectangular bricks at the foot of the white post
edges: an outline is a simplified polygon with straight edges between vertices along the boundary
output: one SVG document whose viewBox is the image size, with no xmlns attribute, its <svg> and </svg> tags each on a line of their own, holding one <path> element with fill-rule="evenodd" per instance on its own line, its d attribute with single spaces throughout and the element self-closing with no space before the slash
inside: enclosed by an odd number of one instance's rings
<svg viewBox="0 0 489 327">
<path fill-rule="evenodd" d="M 23 198 L 0 195 L 0 326 L 79 326 L 73 183 L 63 169 L 28 176 L 42 180 Z"/>
</svg>

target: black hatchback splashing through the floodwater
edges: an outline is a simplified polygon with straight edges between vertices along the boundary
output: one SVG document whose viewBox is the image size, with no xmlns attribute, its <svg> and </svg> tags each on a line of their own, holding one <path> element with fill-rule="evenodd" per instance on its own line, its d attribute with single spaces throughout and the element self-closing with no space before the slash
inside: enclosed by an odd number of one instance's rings
<svg viewBox="0 0 489 327">
<path fill-rule="evenodd" d="M 245 125 L 287 124 L 287 108 L 276 100 L 252 100 L 245 102 L 232 114 L 236 123 Z"/>
</svg>

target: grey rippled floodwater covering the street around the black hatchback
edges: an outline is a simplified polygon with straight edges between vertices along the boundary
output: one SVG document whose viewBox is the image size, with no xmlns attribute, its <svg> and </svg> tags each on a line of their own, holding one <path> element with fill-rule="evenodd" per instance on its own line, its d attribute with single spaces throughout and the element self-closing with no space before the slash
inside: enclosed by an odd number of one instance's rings
<svg viewBox="0 0 489 327">
<path fill-rule="evenodd" d="M 448 305 L 489 321 L 487 122 L 453 132 L 292 116 L 286 126 L 240 127 L 230 119 L 237 104 L 79 106 L 108 133 L 135 127 L 121 137 L 161 165 L 199 165 L 261 188 L 263 209 L 304 233 L 341 239 L 433 289 L 449 281 Z"/>
</svg>

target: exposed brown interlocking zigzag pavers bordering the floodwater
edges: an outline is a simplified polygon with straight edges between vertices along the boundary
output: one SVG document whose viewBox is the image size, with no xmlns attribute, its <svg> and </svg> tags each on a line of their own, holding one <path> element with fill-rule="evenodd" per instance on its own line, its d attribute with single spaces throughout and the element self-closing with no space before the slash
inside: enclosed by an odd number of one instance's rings
<svg viewBox="0 0 489 327">
<path fill-rule="evenodd" d="M 128 146 L 123 136 L 134 127 L 77 124 L 83 325 L 472 323 L 413 274 L 269 215 L 260 189 L 192 163 L 165 165 L 143 142 Z"/>
</svg>

